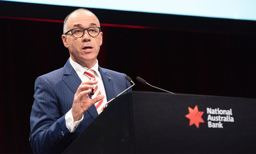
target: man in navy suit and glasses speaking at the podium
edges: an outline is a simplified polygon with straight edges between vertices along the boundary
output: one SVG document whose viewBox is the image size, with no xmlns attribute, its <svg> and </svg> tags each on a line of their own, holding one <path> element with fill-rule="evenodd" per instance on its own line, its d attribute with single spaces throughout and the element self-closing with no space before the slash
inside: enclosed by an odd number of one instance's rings
<svg viewBox="0 0 256 154">
<path fill-rule="evenodd" d="M 108 100 L 131 86 L 125 74 L 99 67 L 102 34 L 98 18 L 89 10 L 77 9 L 66 17 L 62 41 L 70 58 L 63 68 L 35 81 L 29 136 L 34 153 L 65 150 Z"/>
</svg>

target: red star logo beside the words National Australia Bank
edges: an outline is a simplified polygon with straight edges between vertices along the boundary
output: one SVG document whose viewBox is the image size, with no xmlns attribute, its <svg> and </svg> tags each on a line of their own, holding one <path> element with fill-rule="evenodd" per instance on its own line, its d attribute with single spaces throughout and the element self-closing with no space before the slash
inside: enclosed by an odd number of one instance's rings
<svg viewBox="0 0 256 154">
<path fill-rule="evenodd" d="M 185 117 L 189 119 L 189 126 L 195 124 L 197 128 L 199 128 L 199 123 L 204 123 L 202 119 L 203 111 L 198 111 L 197 105 L 195 105 L 195 108 L 192 109 L 188 107 L 189 114 L 187 114 Z"/>
</svg>

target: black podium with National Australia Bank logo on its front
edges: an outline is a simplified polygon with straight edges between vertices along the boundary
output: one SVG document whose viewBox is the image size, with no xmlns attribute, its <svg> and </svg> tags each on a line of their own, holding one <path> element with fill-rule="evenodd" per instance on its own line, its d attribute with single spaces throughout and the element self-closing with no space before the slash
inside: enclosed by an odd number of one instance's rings
<svg viewBox="0 0 256 154">
<path fill-rule="evenodd" d="M 256 153 L 256 99 L 133 91 L 63 153 Z"/>
</svg>

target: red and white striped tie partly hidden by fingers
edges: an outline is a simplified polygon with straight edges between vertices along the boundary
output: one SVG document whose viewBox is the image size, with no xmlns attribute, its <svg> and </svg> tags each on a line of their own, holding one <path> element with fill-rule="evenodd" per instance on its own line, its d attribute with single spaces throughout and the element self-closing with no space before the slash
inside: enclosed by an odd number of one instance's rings
<svg viewBox="0 0 256 154">
<path fill-rule="evenodd" d="M 86 76 L 88 76 L 88 78 L 90 80 L 95 81 L 94 71 L 92 69 L 87 69 L 84 74 L 86 74 Z M 91 96 L 92 98 L 95 98 L 96 96 L 101 94 L 97 84 L 94 86 L 93 89 L 94 89 L 93 90 L 94 94 Z M 96 102 L 94 104 L 96 109 L 97 109 L 97 111 L 98 111 L 98 114 L 100 114 L 104 110 L 104 105 L 102 103 L 103 103 L 103 99 L 99 100 L 98 102 Z"/>
</svg>

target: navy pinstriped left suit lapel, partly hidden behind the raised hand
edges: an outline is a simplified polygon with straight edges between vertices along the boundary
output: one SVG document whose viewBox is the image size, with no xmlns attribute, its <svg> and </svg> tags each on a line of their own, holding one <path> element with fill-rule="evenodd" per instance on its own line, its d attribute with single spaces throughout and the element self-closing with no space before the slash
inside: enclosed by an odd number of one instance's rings
<svg viewBox="0 0 256 154">
<path fill-rule="evenodd" d="M 74 92 L 74 94 L 76 93 L 77 88 L 81 84 L 81 79 L 76 74 L 74 68 L 71 66 L 69 59 L 67 60 L 67 63 L 64 65 L 63 81 L 72 90 L 72 92 Z M 95 119 L 98 116 L 95 105 L 90 107 L 87 111 L 93 119 Z"/>
</svg>

